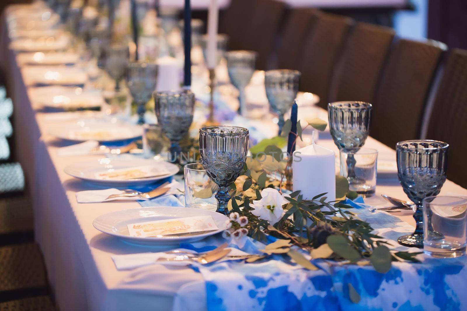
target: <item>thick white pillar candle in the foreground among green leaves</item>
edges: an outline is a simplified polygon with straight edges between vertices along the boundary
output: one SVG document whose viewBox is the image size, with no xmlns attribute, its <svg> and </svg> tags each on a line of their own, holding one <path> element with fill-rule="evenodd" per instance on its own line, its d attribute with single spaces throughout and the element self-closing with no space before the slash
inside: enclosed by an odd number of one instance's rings
<svg viewBox="0 0 467 311">
<path fill-rule="evenodd" d="M 314 138 L 311 145 L 293 152 L 293 191 L 300 190 L 304 200 L 325 192 L 326 202 L 336 200 L 335 156 L 331 149 L 316 145 Z"/>
</svg>

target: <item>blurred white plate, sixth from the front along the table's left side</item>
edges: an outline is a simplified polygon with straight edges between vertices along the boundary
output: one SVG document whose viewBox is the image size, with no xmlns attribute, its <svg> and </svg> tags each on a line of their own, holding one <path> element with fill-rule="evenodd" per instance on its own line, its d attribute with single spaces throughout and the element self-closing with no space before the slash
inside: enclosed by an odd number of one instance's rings
<svg viewBox="0 0 467 311">
<path fill-rule="evenodd" d="M 68 52 L 35 52 L 20 53 L 16 56 L 16 59 L 18 63 L 26 65 L 69 65 L 77 63 L 79 55 Z"/>
</svg>

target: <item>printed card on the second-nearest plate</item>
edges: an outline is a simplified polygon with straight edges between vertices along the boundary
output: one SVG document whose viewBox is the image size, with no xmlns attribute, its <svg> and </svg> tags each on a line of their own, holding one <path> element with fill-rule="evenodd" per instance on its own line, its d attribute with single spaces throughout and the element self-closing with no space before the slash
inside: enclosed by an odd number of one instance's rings
<svg viewBox="0 0 467 311">
<path fill-rule="evenodd" d="M 96 173 L 96 179 L 100 180 L 131 180 L 140 178 L 149 178 L 170 174 L 163 163 L 157 166 L 135 166 L 120 169 L 109 169 L 104 172 Z"/>
</svg>

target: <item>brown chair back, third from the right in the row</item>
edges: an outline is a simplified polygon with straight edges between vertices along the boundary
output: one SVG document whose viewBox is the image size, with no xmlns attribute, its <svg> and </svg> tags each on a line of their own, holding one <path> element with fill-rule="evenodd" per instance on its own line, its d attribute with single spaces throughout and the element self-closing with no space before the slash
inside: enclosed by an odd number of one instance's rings
<svg viewBox="0 0 467 311">
<path fill-rule="evenodd" d="M 372 103 L 394 30 L 357 23 L 350 31 L 331 84 L 330 101 Z"/>
</svg>

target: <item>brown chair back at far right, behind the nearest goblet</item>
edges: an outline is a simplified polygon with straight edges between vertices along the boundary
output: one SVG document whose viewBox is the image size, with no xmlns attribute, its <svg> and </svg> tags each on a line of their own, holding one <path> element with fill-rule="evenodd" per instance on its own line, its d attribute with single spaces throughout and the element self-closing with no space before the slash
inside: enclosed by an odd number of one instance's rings
<svg viewBox="0 0 467 311">
<path fill-rule="evenodd" d="M 432 105 L 427 139 L 449 144 L 447 178 L 467 188 L 467 51 L 448 55 Z"/>
</svg>

